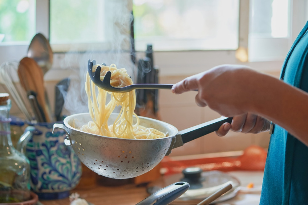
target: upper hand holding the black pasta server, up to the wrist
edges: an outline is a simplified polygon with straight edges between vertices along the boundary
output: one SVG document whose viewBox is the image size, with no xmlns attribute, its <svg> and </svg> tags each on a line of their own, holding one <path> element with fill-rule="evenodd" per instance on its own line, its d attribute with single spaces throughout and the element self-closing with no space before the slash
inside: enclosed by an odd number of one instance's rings
<svg viewBox="0 0 308 205">
<path fill-rule="evenodd" d="M 259 72 L 241 65 L 220 65 L 208 71 L 185 78 L 172 87 L 172 92 L 180 94 L 198 90 L 198 106 L 209 106 L 226 117 L 243 115 L 250 111 L 255 99 L 254 83 Z"/>
</svg>

